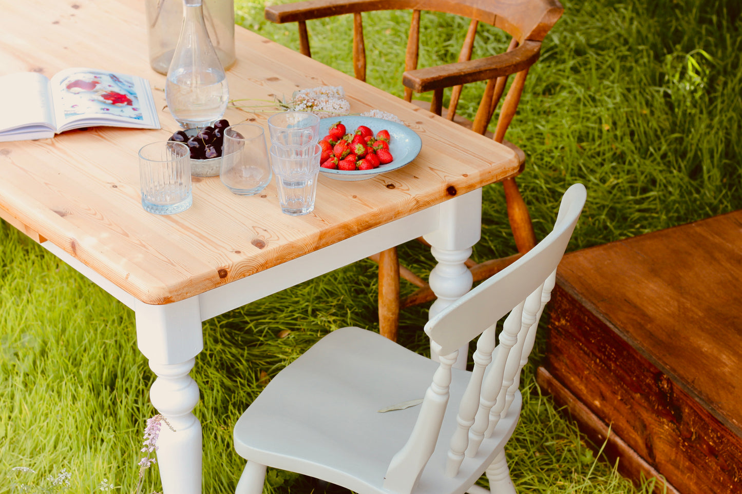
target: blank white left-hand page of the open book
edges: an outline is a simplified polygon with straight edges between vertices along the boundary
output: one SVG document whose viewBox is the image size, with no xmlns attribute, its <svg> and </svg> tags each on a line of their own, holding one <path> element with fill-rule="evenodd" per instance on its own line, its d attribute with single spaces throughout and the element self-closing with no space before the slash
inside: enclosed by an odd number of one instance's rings
<svg viewBox="0 0 742 494">
<path fill-rule="evenodd" d="M 53 137 L 54 113 L 49 79 L 41 73 L 21 72 L 0 76 L 0 141 Z"/>
</svg>

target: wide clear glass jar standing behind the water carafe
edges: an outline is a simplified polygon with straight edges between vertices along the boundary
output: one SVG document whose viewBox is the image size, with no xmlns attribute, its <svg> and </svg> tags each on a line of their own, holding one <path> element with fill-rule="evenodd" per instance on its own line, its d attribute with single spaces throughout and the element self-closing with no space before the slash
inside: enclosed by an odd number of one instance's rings
<svg viewBox="0 0 742 494">
<path fill-rule="evenodd" d="M 149 63 L 163 76 L 173 59 L 180 27 L 183 0 L 145 0 Z M 234 0 L 203 0 L 203 20 L 211 45 L 224 70 L 234 65 Z"/>
</svg>

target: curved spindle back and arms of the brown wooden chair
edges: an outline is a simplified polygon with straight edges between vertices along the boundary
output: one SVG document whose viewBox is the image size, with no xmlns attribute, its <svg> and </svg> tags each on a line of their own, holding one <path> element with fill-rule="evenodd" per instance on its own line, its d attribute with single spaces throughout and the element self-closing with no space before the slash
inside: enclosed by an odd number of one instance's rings
<svg viewBox="0 0 742 494">
<path fill-rule="evenodd" d="M 430 111 L 441 115 L 443 90 L 453 88 L 446 118 L 456 117 L 456 107 L 467 82 L 487 80 L 487 87 L 479 102 L 472 130 L 487 132 L 487 125 L 505 86 L 508 76 L 516 77 L 510 85 L 502 105 L 493 138 L 502 142 L 513 119 L 525 85 L 528 69 L 539 58 L 541 42 L 564 11 L 559 0 L 309 0 L 266 7 L 266 19 L 272 22 L 298 22 L 300 50 L 312 56 L 306 21 L 350 14 L 353 19 L 353 70 L 355 77 L 366 80 L 366 49 L 361 13 L 373 10 L 412 10 L 410 34 L 407 39 L 403 76 L 404 98 L 412 100 L 413 91 L 433 90 Z M 470 19 L 470 24 L 457 63 L 418 70 L 420 53 L 421 11 L 451 13 Z M 506 53 L 470 61 L 479 22 L 498 27 L 512 36 Z"/>
</svg>

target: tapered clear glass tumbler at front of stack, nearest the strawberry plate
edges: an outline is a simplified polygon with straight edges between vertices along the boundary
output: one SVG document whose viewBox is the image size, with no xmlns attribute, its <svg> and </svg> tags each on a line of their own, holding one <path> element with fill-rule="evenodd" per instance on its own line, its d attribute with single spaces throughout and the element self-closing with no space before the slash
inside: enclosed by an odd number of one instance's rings
<svg viewBox="0 0 742 494">
<path fill-rule="evenodd" d="M 271 165 L 283 213 L 298 216 L 314 211 L 321 154 L 317 144 L 271 146 Z"/>
</svg>

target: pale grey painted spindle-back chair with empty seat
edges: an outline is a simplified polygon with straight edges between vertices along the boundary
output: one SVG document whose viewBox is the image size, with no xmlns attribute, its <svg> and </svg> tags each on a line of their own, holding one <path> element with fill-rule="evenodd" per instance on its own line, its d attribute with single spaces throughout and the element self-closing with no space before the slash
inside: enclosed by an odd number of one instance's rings
<svg viewBox="0 0 742 494">
<path fill-rule="evenodd" d="M 266 465 L 361 494 L 487 493 L 473 486 L 486 472 L 493 493 L 514 494 L 504 448 L 519 375 L 585 197 L 581 184 L 569 188 L 539 245 L 425 325 L 440 363 L 349 327 L 279 372 L 234 427 L 247 460 L 237 494 L 262 493 Z M 473 371 L 452 369 L 479 335 Z M 382 412 L 395 405 L 409 407 Z"/>
</svg>

